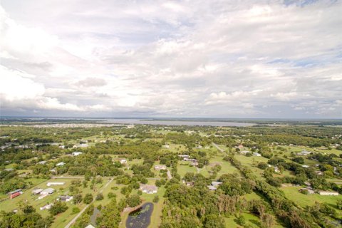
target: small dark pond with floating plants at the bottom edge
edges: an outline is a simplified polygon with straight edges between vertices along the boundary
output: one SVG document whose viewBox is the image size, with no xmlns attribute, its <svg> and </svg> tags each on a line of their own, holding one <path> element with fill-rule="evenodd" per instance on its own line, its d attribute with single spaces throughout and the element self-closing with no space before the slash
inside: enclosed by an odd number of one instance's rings
<svg viewBox="0 0 342 228">
<path fill-rule="evenodd" d="M 126 228 L 147 228 L 150 224 L 153 204 L 147 202 L 128 214 Z"/>
</svg>

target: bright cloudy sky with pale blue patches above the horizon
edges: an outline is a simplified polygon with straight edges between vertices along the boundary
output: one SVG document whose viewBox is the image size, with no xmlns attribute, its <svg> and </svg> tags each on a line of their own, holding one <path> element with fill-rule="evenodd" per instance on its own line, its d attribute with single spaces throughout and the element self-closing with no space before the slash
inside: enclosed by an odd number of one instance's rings
<svg viewBox="0 0 342 228">
<path fill-rule="evenodd" d="M 342 1 L 1 0 L 0 115 L 342 118 Z"/>
</svg>

